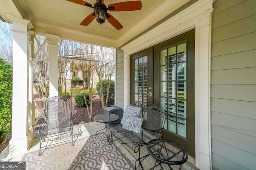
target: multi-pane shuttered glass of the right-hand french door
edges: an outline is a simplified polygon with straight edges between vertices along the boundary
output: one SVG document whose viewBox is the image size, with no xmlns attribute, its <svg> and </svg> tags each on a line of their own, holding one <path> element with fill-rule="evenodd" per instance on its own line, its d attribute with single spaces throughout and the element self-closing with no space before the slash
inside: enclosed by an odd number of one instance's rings
<svg viewBox="0 0 256 170">
<path fill-rule="evenodd" d="M 168 117 L 164 128 L 187 138 L 186 43 L 160 51 L 160 104 Z"/>
</svg>

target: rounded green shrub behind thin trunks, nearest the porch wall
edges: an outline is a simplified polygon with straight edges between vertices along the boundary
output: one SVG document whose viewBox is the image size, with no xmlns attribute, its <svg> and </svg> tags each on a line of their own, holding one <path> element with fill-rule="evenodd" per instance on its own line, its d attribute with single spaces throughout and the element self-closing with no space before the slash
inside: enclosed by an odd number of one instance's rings
<svg viewBox="0 0 256 170">
<path fill-rule="evenodd" d="M 104 100 L 106 100 L 106 98 L 107 98 L 108 81 L 109 80 L 102 80 L 102 90 L 103 90 Z M 101 96 L 100 82 L 97 83 L 96 89 L 97 89 L 98 94 Z M 110 80 L 110 88 L 109 88 L 108 98 L 114 98 L 114 97 L 115 97 L 115 81 Z"/>
</svg>

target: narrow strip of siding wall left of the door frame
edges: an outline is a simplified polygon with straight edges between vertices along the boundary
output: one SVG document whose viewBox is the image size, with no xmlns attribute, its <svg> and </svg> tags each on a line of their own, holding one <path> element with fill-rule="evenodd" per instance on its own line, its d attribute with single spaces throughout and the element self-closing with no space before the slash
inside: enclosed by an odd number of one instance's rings
<svg viewBox="0 0 256 170">
<path fill-rule="evenodd" d="M 124 109 L 124 51 L 116 50 L 116 105 Z"/>
</svg>

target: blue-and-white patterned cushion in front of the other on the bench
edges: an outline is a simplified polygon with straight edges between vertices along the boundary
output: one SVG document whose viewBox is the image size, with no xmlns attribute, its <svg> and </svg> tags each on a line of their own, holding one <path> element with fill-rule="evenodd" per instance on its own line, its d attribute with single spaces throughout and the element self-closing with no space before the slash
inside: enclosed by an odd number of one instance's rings
<svg viewBox="0 0 256 170">
<path fill-rule="evenodd" d="M 123 129 L 133 131 L 140 134 L 143 118 L 128 116 L 124 122 Z"/>
</svg>

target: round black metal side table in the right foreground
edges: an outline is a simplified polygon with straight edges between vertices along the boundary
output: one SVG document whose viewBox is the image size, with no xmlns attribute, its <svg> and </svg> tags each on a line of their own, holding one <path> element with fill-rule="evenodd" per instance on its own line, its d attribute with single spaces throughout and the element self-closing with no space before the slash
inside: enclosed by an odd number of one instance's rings
<svg viewBox="0 0 256 170">
<path fill-rule="evenodd" d="M 181 170 L 182 164 L 188 160 L 188 152 L 173 141 L 154 139 L 148 142 L 147 150 L 158 162 L 158 165 L 161 166 L 162 163 L 168 164 L 170 170 L 172 170 L 170 165 L 180 165 L 179 170 Z M 156 162 L 152 168 L 153 170 L 156 167 Z M 162 166 L 161 168 L 164 169 Z"/>
</svg>

